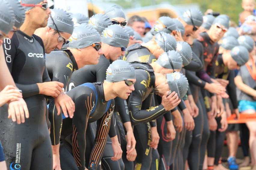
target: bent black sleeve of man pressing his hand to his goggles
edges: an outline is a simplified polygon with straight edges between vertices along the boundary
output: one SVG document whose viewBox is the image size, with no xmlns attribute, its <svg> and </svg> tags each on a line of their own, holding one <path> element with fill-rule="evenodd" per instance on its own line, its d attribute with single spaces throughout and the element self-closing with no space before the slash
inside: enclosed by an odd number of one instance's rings
<svg viewBox="0 0 256 170">
<path fill-rule="evenodd" d="M 130 113 L 130 119 L 132 125 L 139 123 L 146 123 L 151 120 L 156 119 L 165 113 L 165 108 L 162 104 L 143 110 L 142 109 L 142 99 L 144 92 L 146 92 L 146 87 L 143 84 L 136 83 L 135 91 L 133 91 L 128 99 L 128 108 Z M 150 100 L 151 101 L 151 100 Z"/>
</svg>

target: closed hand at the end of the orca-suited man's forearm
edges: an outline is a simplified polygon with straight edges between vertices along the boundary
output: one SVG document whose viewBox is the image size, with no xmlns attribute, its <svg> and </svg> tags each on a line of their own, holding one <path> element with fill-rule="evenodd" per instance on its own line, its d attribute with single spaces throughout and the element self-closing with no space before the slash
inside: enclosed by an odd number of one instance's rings
<svg viewBox="0 0 256 170">
<path fill-rule="evenodd" d="M 44 83 L 37 83 L 39 88 L 39 94 L 52 96 L 53 98 L 58 97 L 60 92 L 62 92 L 62 88 L 64 86 L 63 83 L 58 81 L 49 81 Z"/>
</svg>

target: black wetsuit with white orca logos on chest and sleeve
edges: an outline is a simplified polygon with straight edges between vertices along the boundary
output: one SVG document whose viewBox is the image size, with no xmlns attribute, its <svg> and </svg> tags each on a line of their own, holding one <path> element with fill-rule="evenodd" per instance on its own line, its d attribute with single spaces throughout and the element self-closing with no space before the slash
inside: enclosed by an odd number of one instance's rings
<svg viewBox="0 0 256 170">
<path fill-rule="evenodd" d="M 29 119 L 18 125 L 1 107 L 1 141 L 10 169 L 52 169 L 52 148 L 46 123 L 46 102 L 36 83 L 50 81 L 44 61 L 44 43 L 22 31 L 3 44 L 5 59 L 16 86 L 23 91 Z"/>
</svg>

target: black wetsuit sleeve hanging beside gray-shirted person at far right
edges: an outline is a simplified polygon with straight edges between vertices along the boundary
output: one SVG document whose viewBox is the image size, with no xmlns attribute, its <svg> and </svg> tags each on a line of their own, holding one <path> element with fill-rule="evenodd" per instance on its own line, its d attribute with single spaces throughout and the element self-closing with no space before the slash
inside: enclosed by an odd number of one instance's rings
<svg viewBox="0 0 256 170">
<path fill-rule="evenodd" d="M 227 80 L 229 81 L 229 84 L 227 85 L 227 92 L 228 92 L 229 98 L 232 102 L 233 108 L 237 109 L 238 102 L 237 102 L 237 98 L 236 98 L 236 85 L 234 82 L 234 77 L 235 77 L 235 71 L 230 70 L 230 73 L 227 78 Z"/>
</svg>

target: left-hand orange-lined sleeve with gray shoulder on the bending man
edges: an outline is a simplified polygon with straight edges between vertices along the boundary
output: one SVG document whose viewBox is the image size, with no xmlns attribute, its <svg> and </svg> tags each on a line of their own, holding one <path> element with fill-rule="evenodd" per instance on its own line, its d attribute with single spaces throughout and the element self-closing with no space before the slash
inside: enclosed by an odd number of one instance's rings
<svg viewBox="0 0 256 170">
<path fill-rule="evenodd" d="M 94 106 L 94 103 L 96 103 L 96 96 L 93 90 L 86 86 L 77 87 L 67 92 L 66 94 L 69 95 L 72 99 L 75 99 L 74 102 L 76 110 L 72 118 L 72 150 L 78 169 L 84 170 L 86 146 L 85 132 L 91 110 L 93 107 L 96 107 Z"/>
</svg>

